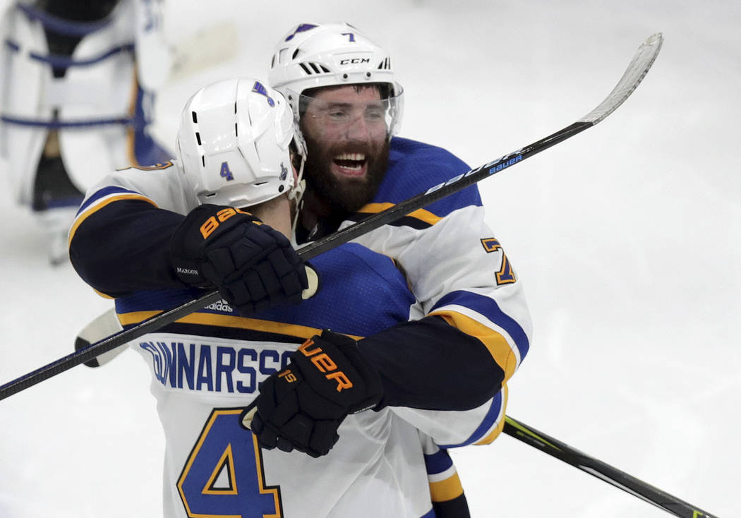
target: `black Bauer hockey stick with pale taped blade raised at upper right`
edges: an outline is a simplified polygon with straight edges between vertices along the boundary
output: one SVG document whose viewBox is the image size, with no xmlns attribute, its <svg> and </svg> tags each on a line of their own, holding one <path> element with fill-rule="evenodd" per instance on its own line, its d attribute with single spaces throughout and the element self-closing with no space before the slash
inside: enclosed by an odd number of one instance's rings
<svg viewBox="0 0 741 518">
<path fill-rule="evenodd" d="M 297 250 L 299 256 L 305 260 L 318 256 L 320 253 L 326 252 L 327 250 L 342 245 L 356 237 L 371 232 L 371 230 L 375 230 L 382 225 L 394 222 L 397 219 L 412 213 L 414 210 L 425 207 L 425 205 L 429 205 L 432 202 L 436 202 L 437 200 L 473 185 L 476 182 L 480 182 L 482 179 L 493 176 L 501 170 L 517 165 L 519 162 L 522 162 L 541 151 L 547 150 L 549 147 L 554 146 L 559 142 L 570 139 L 577 133 L 581 133 L 598 122 L 601 122 L 605 117 L 610 115 L 610 113 L 614 112 L 620 104 L 625 102 L 625 99 L 628 99 L 628 96 L 630 96 L 638 87 L 646 73 L 648 73 L 648 70 L 651 68 L 651 65 L 654 64 L 654 60 L 661 49 L 662 41 L 663 38 L 661 33 L 657 33 L 643 42 L 610 95 L 594 108 L 594 110 L 591 110 L 591 112 L 574 122 L 574 124 L 570 124 L 562 130 L 556 131 L 556 133 L 545 137 L 545 139 L 540 139 L 531 145 L 522 147 L 512 153 L 508 153 L 493 162 L 488 162 L 488 164 L 476 167 L 475 169 L 468 171 L 468 173 L 456 176 L 455 178 L 448 180 L 448 182 L 431 187 L 424 193 L 419 193 L 404 202 L 373 214 L 373 216 L 339 230 L 336 233 L 330 234 L 323 239 L 319 239 L 310 245 L 299 248 L 299 250 Z M 173 308 L 164 313 L 160 313 L 157 316 L 153 316 L 150 319 L 144 320 L 144 322 L 140 322 L 133 328 L 116 333 L 113 336 L 109 336 L 107 339 L 96 342 L 87 348 L 64 356 L 48 365 L 44 365 L 44 367 L 36 369 L 36 371 L 27 373 L 24 376 L 0 386 L 0 399 L 12 396 L 13 394 L 44 381 L 44 379 L 56 376 L 59 373 L 73 368 L 75 365 L 93 359 L 99 354 L 106 353 L 107 351 L 115 349 L 119 345 L 123 345 L 133 339 L 139 338 L 139 336 L 156 331 L 157 329 L 162 328 L 162 326 L 175 322 L 183 316 L 193 313 L 193 311 L 198 311 L 201 308 L 205 308 L 207 305 L 219 301 L 219 299 L 221 299 L 221 295 L 218 291 L 207 293 L 198 299 L 186 302 L 177 308 Z"/>
</svg>

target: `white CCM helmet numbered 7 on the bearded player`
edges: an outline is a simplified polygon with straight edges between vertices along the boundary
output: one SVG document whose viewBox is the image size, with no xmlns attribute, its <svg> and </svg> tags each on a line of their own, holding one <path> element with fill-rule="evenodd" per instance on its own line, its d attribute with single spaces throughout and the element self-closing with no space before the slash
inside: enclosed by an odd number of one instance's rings
<svg viewBox="0 0 741 518">
<path fill-rule="evenodd" d="M 307 90 L 345 84 L 385 84 L 388 136 L 399 129 L 404 90 L 394 80 L 391 56 L 347 23 L 299 24 L 276 45 L 270 86 L 282 93 L 296 116 Z"/>
</svg>

